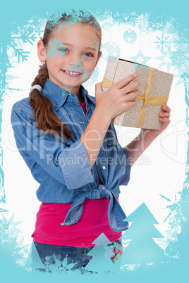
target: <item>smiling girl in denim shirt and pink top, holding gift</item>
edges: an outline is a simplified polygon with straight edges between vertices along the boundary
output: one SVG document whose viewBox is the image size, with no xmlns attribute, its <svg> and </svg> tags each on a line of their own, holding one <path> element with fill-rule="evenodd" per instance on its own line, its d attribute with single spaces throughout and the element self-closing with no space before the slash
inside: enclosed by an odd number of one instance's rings
<svg viewBox="0 0 189 283">
<path fill-rule="evenodd" d="M 39 182 L 42 204 L 32 238 L 44 270 L 47 262 L 66 257 L 72 270 L 84 268 L 102 233 L 116 247 L 114 258 L 121 253 L 128 222 L 118 202 L 119 185 L 128 184 L 130 167 L 170 122 L 170 108 L 162 106 L 161 130 L 142 129 L 127 150 L 121 147 L 111 119 L 135 107 L 140 82 L 132 82 L 133 74 L 106 92 L 96 84 L 95 98 L 88 94 L 82 83 L 102 55 L 101 42 L 101 28 L 90 13 L 72 11 L 48 20 L 37 42 L 42 65 L 30 97 L 11 111 L 16 145 Z"/>
</svg>

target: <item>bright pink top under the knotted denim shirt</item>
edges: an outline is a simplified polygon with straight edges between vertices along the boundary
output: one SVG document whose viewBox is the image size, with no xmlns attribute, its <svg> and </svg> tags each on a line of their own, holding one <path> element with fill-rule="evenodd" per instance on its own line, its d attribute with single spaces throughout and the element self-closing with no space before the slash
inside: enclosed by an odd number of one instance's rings
<svg viewBox="0 0 189 283">
<path fill-rule="evenodd" d="M 85 102 L 80 103 L 84 113 Z M 98 184 L 102 184 L 99 179 Z M 118 200 L 118 197 L 116 198 Z M 118 240 L 122 232 L 115 232 L 109 227 L 109 200 L 86 199 L 83 203 L 83 214 L 73 225 L 60 225 L 66 218 L 72 203 L 42 203 L 37 213 L 33 241 L 58 246 L 94 246 L 92 241 L 104 233 L 109 241 Z"/>
</svg>

